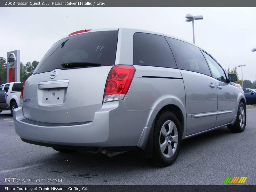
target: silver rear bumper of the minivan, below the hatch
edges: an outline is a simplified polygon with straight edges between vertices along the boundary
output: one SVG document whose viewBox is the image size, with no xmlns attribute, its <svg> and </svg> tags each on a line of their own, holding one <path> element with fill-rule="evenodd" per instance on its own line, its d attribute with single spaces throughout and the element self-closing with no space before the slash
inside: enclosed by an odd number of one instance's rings
<svg viewBox="0 0 256 192">
<path fill-rule="evenodd" d="M 148 116 L 154 110 L 125 110 L 124 101 L 103 103 L 92 122 L 78 125 L 51 126 L 30 124 L 23 116 L 22 107 L 13 112 L 16 133 L 23 138 L 45 144 L 44 146 L 84 147 L 145 147 L 151 127 Z M 42 114 L 43 115 L 43 114 Z M 25 141 L 24 140 L 24 141 Z M 31 142 L 30 142 L 31 143 Z"/>
</svg>

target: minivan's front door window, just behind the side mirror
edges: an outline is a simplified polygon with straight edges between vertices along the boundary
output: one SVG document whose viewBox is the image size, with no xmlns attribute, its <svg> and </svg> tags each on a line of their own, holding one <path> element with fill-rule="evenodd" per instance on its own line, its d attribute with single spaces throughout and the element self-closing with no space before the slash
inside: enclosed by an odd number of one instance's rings
<svg viewBox="0 0 256 192">
<path fill-rule="evenodd" d="M 210 55 L 208 55 L 205 52 L 203 52 L 203 54 L 212 71 L 212 77 L 225 82 L 226 75 L 224 70 L 220 67 L 220 65 L 214 59 L 212 59 Z"/>
</svg>

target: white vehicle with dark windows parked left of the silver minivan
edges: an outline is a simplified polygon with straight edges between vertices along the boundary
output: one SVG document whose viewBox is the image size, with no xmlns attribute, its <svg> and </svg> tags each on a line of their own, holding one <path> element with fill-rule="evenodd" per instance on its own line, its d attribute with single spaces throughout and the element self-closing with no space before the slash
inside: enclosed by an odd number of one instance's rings
<svg viewBox="0 0 256 192">
<path fill-rule="evenodd" d="M 0 85 L 0 90 L 4 90 L 7 94 L 7 107 L 3 110 L 13 110 L 20 105 L 20 92 L 24 82 L 11 82 Z"/>
</svg>

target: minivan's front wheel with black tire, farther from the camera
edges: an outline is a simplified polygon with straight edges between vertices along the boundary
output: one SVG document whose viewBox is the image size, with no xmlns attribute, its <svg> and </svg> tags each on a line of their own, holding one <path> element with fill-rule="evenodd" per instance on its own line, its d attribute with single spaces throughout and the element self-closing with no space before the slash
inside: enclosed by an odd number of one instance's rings
<svg viewBox="0 0 256 192">
<path fill-rule="evenodd" d="M 241 114 L 241 111 L 244 111 L 244 115 Z M 242 121 L 242 123 L 241 123 L 241 121 Z M 240 132 L 244 131 L 245 126 L 246 126 L 246 110 L 245 110 L 244 103 L 241 102 L 238 105 L 236 121 L 233 125 L 228 125 L 228 128 L 232 132 L 240 133 Z"/>
</svg>

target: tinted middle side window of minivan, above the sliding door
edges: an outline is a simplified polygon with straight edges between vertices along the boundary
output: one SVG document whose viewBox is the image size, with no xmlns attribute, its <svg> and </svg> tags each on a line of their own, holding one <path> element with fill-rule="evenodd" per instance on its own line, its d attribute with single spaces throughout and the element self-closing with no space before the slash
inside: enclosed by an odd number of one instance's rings
<svg viewBox="0 0 256 192">
<path fill-rule="evenodd" d="M 195 45 L 166 37 L 179 69 L 211 76 L 210 69 L 200 49 Z"/>
</svg>

